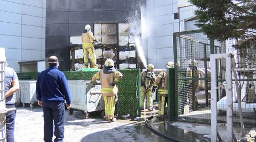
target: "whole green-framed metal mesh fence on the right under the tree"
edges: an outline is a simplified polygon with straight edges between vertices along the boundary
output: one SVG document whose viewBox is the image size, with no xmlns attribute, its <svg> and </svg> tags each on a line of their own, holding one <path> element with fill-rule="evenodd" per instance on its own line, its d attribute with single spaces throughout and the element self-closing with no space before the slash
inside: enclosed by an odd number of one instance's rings
<svg viewBox="0 0 256 142">
<path fill-rule="evenodd" d="M 240 127 L 237 91 L 241 93 L 244 127 L 247 131 L 256 125 L 256 38 L 219 42 L 207 38 L 199 30 L 173 34 L 175 61 L 176 118 L 181 121 L 210 123 L 211 70 L 217 70 L 218 122 L 226 123 L 226 65 L 217 60 L 217 68 L 210 67 L 210 54 L 234 55 L 238 87 L 232 74 L 233 126 Z M 190 60 L 191 59 L 191 60 Z M 179 63 L 178 63 L 179 62 Z M 180 67 L 178 66 L 180 64 Z M 230 70 L 229 70 L 230 71 Z M 256 134 L 256 133 L 255 133 Z M 242 135 L 241 135 L 242 136 Z"/>
</svg>

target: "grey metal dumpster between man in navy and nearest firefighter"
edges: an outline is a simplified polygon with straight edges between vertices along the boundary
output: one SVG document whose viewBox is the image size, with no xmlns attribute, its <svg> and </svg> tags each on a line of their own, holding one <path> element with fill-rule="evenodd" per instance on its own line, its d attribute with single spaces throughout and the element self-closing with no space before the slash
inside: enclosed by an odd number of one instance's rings
<svg viewBox="0 0 256 142">
<path fill-rule="evenodd" d="M 68 81 L 68 87 L 71 93 L 71 108 L 69 114 L 73 114 L 72 109 L 85 112 L 85 119 L 89 117 L 89 112 L 104 110 L 104 102 L 101 94 L 101 85 L 96 85 L 91 81 Z M 103 113 L 104 111 L 102 111 Z"/>
</svg>

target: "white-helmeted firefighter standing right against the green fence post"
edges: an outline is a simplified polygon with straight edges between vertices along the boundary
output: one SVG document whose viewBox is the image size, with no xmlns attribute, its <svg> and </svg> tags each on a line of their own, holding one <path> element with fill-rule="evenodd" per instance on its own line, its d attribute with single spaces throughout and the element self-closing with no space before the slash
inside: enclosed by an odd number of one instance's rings
<svg viewBox="0 0 256 142">
<path fill-rule="evenodd" d="M 169 61 L 166 64 L 166 68 L 174 68 L 174 63 Z M 168 82 L 167 82 L 168 71 L 164 70 L 158 74 L 156 77 L 155 83 L 152 88 L 152 92 L 155 92 L 156 87 L 158 86 L 158 114 L 156 115 L 157 118 L 164 118 L 165 105 L 167 102 L 167 95 L 168 95 Z"/>
</svg>

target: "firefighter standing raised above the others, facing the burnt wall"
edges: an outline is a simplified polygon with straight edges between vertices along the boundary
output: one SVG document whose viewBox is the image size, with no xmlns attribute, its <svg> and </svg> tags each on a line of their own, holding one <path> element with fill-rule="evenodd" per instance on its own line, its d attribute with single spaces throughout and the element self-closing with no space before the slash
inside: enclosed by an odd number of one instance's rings
<svg viewBox="0 0 256 142">
<path fill-rule="evenodd" d="M 89 54 L 91 55 L 92 68 L 98 68 L 96 66 L 96 55 L 94 49 L 94 42 L 97 41 L 91 32 L 91 26 L 85 25 L 84 32 L 82 33 L 82 47 L 84 51 L 84 66 L 88 68 Z"/>
</svg>

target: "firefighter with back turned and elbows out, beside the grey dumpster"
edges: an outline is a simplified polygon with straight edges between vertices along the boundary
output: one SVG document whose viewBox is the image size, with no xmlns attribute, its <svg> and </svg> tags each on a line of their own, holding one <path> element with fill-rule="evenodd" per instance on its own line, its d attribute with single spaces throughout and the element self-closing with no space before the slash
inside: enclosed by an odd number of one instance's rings
<svg viewBox="0 0 256 142">
<path fill-rule="evenodd" d="M 118 88 L 116 83 L 119 82 L 122 77 L 122 73 L 115 69 L 112 59 L 107 59 L 103 69 L 92 77 L 92 82 L 96 82 L 97 79 L 100 79 L 101 93 L 105 102 L 106 119 L 109 122 L 116 121 L 116 118 L 114 118 L 115 104 L 118 100 Z"/>
</svg>

